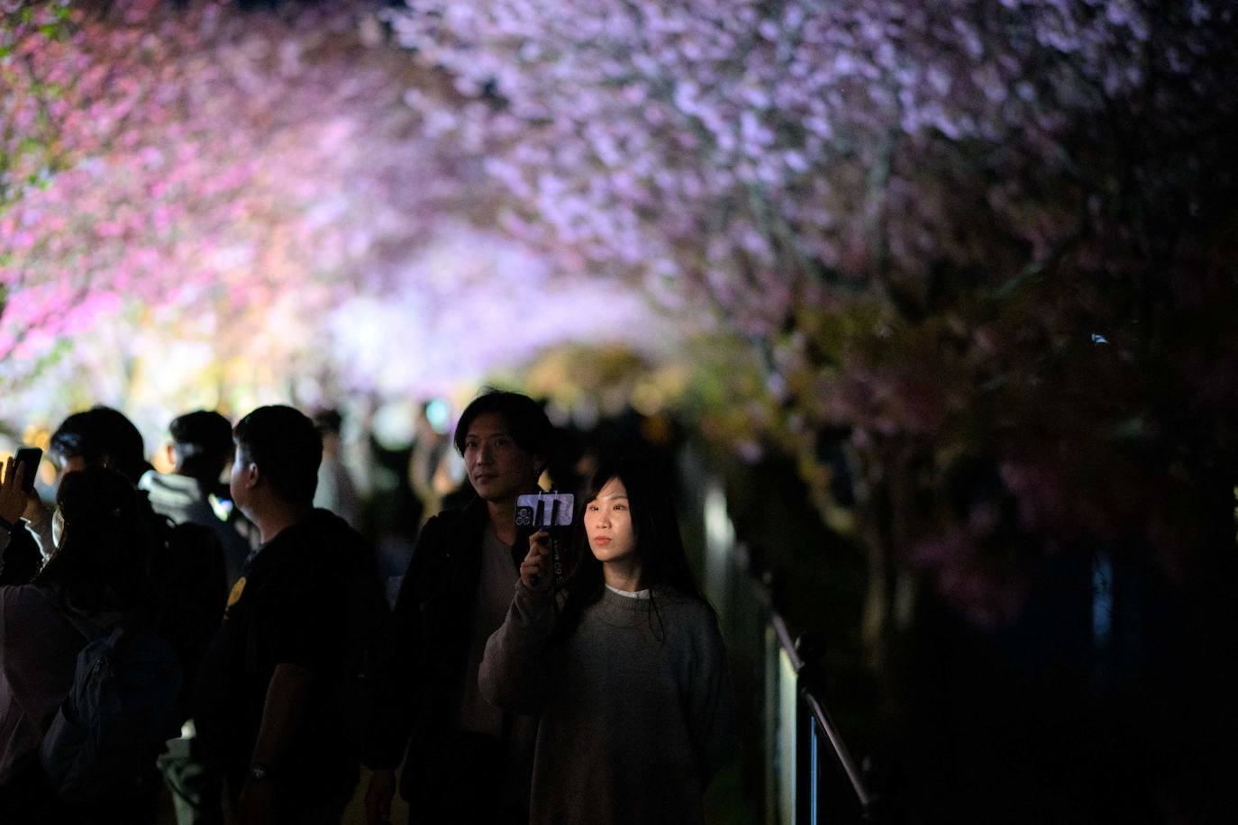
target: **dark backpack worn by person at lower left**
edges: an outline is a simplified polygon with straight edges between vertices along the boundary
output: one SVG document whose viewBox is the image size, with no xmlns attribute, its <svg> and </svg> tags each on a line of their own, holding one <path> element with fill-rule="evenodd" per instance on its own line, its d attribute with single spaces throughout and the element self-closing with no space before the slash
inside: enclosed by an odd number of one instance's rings
<svg viewBox="0 0 1238 825">
<path fill-rule="evenodd" d="M 43 736 L 48 787 L 69 804 L 135 795 L 165 740 L 176 736 L 181 664 L 172 646 L 150 631 L 66 617 L 87 646 Z"/>
</svg>

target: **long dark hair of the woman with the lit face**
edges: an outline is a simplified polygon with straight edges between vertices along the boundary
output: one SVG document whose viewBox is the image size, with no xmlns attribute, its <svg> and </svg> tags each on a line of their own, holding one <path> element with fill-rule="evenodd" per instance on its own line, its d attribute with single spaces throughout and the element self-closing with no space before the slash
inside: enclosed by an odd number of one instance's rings
<svg viewBox="0 0 1238 825">
<path fill-rule="evenodd" d="M 680 597 L 708 601 L 697 586 L 696 576 L 683 550 L 680 536 L 680 523 L 675 512 L 675 501 L 666 474 L 657 472 L 647 459 L 641 456 L 621 456 L 603 461 L 582 496 L 582 513 L 576 519 L 574 545 L 579 549 L 576 569 L 566 584 L 567 599 L 556 627 L 556 636 L 571 636 L 581 621 L 584 610 L 602 597 L 605 580 L 602 575 L 602 563 L 589 549 L 589 537 L 584 529 L 583 510 L 598 497 L 602 487 L 618 479 L 628 491 L 628 505 L 631 512 L 631 526 L 636 538 L 636 553 L 640 555 L 641 584 L 649 588 L 650 626 L 662 637 L 662 616 L 659 596 L 673 591 Z"/>
</svg>

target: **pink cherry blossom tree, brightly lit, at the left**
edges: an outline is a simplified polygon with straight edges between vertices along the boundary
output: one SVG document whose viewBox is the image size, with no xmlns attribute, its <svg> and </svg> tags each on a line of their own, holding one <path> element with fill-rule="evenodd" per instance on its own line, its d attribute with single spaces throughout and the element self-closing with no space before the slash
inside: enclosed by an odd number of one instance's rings
<svg viewBox="0 0 1238 825">
<path fill-rule="evenodd" d="M 10 398 L 54 418 L 103 397 L 157 429 L 182 398 L 286 398 L 296 376 L 316 397 L 442 392 L 579 329 L 600 298 L 494 228 L 487 137 L 444 126 L 478 104 L 383 46 L 371 12 L 128 0 L 54 17 L 54 38 L 10 27 L 72 68 L 24 87 L 54 109 L 56 169 L 0 212 Z M 438 323 L 459 307 L 501 335 Z"/>
</svg>

